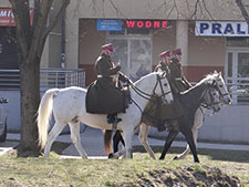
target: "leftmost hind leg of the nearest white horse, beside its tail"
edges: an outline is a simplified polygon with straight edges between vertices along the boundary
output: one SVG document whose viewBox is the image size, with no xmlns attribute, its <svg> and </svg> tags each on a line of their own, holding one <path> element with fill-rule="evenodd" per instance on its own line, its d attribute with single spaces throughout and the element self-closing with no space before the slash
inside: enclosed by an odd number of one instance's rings
<svg viewBox="0 0 249 187">
<path fill-rule="evenodd" d="M 50 156 L 51 146 L 52 146 L 53 142 L 55 141 L 55 138 L 59 136 L 59 134 L 62 132 L 64 126 L 65 126 L 65 124 L 60 124 L 60 123 L 55 122 L 53 128 L 49 133 L 48 141 L 45 144 L 45 150 L 44 150 L 45 157 Z"/>
</svg>

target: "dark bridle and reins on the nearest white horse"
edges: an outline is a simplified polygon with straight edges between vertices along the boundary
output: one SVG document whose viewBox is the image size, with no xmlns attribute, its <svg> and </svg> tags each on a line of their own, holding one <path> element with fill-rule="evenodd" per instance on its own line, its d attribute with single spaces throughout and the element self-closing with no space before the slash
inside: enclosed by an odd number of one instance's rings
<svg viewBox="0 0 249 187">
<path fill-rule="evenodd" d="M 131 81 L 128 81 L 128 84 L 131 85 L 131 87 L 132 87 L 132 89 L 133 89 L 141 97 L 143 97 L 143 98 L 145 98 L 145 100 L 147 100 L 147 101 L 155 102 L 156 100 L 154 100 L 154 98 L 157 98 L 157 100 L 159 98 L 159 100 L 162 100 L 162 97 L 164 97 L 164 100 L 165 100 L 165 96 L 166 96 L 167 94 L 172 93 L 172 90 L 168 91 L 168 92 L 164 92 L 164 87 L 163 87 L 162 80 L 163 80 L 163 79 L 167 79 L 167 77 L 166 77 L 165 75 L 163 75 L 163 77 L 160 77 L 158 74 L 156 74 L 156 79 L 157 79 L 157 81 L 156 81 L 156 84 L 155 84 L 155 86 L 154 86 L 154 89 L 153 89 L 153 94 L 148 94 L 148 93 L 146 93 L 146 92 L 139 90 L 139 89 L 136 87 Z M 162 91 L 162 95 L 160 95 L 160 96 L 157 96 L 156 93 L 155 93 L 157 85 L 160 86 L 160 91 Z M 141 112 L 143 113 L 141 106 L 139 106 L 133 98 L 131 98 L 131 100 L 135 103 L 135 105 L 136 105 L 136 106 L 141 110 Z"/>
</svg>

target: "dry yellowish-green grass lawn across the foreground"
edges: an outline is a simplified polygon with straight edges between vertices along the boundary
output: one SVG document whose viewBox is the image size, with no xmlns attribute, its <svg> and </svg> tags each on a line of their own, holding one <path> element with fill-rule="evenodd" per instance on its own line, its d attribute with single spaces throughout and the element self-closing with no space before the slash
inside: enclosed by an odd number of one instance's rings
<svg viewBox="0 0 249 187">
<path fill-rule="evenodd" d="M 158 158 L 162 147 L 153 149 Z M 200 164 L 195 164 L 191 155 L 172 160 L 183 150 L 172 148 L 165 160 L 152 159 L 141 146 L 134 147 L 133 159 L 118 160 L 61 159 L 56 153 L 50 158 L 24 158 L 11 150 L 0 157 L 0 186 L 196 187 L 229 186 L 228 181 L 238 178 L 241 186 L 249 186 L 249 152 L 198 149 Z"/>
</svg>

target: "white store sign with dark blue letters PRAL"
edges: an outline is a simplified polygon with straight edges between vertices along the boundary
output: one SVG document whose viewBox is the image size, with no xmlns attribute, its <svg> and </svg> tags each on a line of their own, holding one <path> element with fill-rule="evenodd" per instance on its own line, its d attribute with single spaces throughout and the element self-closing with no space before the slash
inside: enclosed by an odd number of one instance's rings
<svg viewBox="0 0 249 187">
<path fill-rule="evenodd" d="M 196 35 L 211 37 L 249 37 L 247 22 L 196 21 Z"/>
</svg>

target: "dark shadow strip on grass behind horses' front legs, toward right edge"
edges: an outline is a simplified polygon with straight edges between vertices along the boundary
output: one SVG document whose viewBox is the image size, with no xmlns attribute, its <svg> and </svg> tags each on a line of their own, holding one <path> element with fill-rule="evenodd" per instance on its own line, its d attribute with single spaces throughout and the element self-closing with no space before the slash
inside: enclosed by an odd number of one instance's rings
<svg viewBox="0 0 249 187">
<path fill-rule="evenodd" d="M 154 153 L 162 153 L 163 146 L 152 146 Z M 181 154 L 185 150 L 184 147 L 172 147 L 168 154 Z M 134 153 L 146 153 L 143 146 L 134 146 Z M 206 149 L 198 148 L 198 155 L 208 156 L 214 160 L 238 162 L 249 163 L 249 150 L 221 150 L 221 149 Z M 189 154 L 191 155 L 191 153 Z"/>
</svg>

